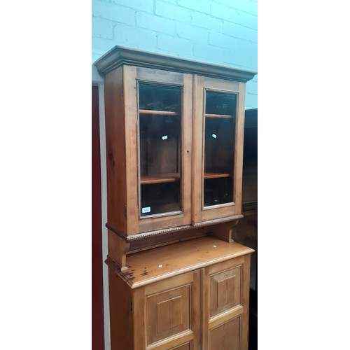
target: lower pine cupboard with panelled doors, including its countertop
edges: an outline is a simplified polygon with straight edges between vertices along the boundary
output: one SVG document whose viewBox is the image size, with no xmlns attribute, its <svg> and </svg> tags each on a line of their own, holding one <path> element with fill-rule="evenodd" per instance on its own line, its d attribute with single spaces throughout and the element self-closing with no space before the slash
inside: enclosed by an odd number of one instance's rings
<svg viewBox="0 0 350 350">
<path fill-rule="evenodd" d="M 183 344 L 193 350 L 231 349 L 233 344 L 248 350 L 253 249 L 214 237 L 163 248 L 135 253 L 126 272 L 109 263 L 112 324 L 127 320 L 112 328 L 112 349 L 120 342 L 125 350 L 169 350 Z"/>
</svg>

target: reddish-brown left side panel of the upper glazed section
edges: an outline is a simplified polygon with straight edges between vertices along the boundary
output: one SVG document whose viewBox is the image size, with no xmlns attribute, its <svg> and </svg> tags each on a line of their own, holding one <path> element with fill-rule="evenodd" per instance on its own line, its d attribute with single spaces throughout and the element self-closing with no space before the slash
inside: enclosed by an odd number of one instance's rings
<svg viewBox="0 0 350 350">
<path fill-rule="evenodd" d="M 121 67 L 106 74 L 104 89 L 108 222 L 117 230 L 126 233 L 125 108 Z"/>
</svg>

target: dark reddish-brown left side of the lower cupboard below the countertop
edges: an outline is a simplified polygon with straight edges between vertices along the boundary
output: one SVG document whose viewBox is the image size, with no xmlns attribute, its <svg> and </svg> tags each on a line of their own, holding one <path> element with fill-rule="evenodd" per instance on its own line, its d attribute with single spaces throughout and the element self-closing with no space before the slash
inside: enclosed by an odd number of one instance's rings
<svg viewBox="0 0 350 350">
<path fill-rule="evenodd" d="M 109 268 L 111 350 L 132 350 L 132 295 L 129 286 Z"/>
</svg>

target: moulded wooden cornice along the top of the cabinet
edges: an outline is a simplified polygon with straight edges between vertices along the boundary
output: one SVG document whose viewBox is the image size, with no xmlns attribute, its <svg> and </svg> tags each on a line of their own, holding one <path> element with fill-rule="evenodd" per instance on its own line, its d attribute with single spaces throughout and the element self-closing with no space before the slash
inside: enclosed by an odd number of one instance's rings
<svg viewBox="0 0 350 350">
<path fill-rule="evenodd" d="M 228 80 L 236 80 L 246 83 L 251 80 L 257 72 L 237 69 L 230 66 L 196 62 L 191 59 L 183 59 L 152 52 L 134 50 L 115 46 L 105 55 L 97 59 L 94 65 L 99 73 L 103 75 L 118 68 L 123 64 L 132 66 L 144 66 L 166 71 L 178 71 L 181 73 L 199 74 Z"/>
</svg>

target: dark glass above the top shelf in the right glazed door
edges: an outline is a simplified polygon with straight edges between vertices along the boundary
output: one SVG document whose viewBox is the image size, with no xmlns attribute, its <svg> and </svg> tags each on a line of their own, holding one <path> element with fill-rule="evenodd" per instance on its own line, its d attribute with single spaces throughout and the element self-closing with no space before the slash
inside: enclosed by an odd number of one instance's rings
<svg viewBox="0 0 350 350">
<path fill-rule="evenodd" d="M 207 91 L 205 113 L 227 114 L 235 116 L 236 95 L 223 92 Z"/>
</svg>

